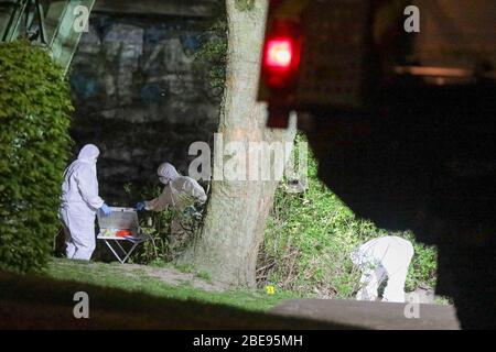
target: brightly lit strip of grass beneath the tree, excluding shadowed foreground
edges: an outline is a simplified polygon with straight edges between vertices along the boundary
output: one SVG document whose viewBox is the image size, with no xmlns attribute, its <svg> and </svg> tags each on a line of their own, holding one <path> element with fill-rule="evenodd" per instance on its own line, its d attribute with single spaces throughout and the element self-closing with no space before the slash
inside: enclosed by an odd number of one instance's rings
<svg viewBox="0 0 496 352">
<path fill-rule="evenodd" d="M 192 268 L 187 273 L 194 273 Z M 54 260 L 48 265 L 46 276 L 57 280 L 75 280 L 100 287 L 118 288 L 130 293 L 142 293 L 155 297 L 180 300 L 196 300 L 238 307 L 246 310 L 266 311 L 283 299 L 301 298 L 294 293 L 276 290 L 268 295 L 265 290 L 231 289 L 226 292 L 206 292 L 191 285 L 171 285 L 151 277 L 144 270 L 122 271 L 120 264 L 86 263 L 68 260 Z M 196 277 L 209 282 L 204 273 Z"/>
</svg>

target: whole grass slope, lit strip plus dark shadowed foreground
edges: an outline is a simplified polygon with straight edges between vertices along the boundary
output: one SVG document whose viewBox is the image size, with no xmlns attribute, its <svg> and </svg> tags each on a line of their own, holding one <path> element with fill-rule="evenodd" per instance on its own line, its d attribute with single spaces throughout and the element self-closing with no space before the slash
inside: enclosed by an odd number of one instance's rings
<svg viewBox="0 0 496 352">
<path fill-rule="evenodd" d="M 267 312 L 288 293 L 208 293 L 168 285 L 142 270 L 55 260 L 43 275 L 0 271 L 0 329 L 349 329 Z M 89 319 L 75 319 L 87 293 Z"/>
</svg>

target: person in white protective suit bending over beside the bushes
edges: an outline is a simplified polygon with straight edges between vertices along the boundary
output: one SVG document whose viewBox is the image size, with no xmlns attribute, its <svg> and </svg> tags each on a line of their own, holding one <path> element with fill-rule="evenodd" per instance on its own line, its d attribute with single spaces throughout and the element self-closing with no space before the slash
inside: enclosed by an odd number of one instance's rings
<svg viewBox="0 0 496 352">
<path fill-rule="evenodd" d="M 370 240 L 352 253 L 353 263 L 362 271 L 358 300 L 376 300 L 380 284 L 388 278 L 382 301 L 405 302 L 405 282 L 413 256 L 410 241 L 386 235 Z"/>
</svg>

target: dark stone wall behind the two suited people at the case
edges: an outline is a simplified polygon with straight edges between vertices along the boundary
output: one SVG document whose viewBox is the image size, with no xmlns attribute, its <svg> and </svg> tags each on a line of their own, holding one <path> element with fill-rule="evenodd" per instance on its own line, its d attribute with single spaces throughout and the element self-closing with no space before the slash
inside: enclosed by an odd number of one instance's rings
<svg viewBox="0 0 496 352">
<path fill-rule="evenodd" d="M 194 158 L 187 156 L 190 144 L 211 142 L 218 101 L 193 63 L 200 21 L 91 15 L 72 65 L 72 136 L 74 153 L 85 143 L 100 148 L 105 199 L 132 204 L 126 183 L 157 182 L 164 161 L 185 173 Z"/>
</svg>

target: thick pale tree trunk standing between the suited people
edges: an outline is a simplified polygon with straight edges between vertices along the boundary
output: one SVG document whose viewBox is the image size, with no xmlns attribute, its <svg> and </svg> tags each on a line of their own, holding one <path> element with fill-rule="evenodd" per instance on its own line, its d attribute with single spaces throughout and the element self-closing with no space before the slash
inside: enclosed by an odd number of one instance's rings
<svg viewBox="0 0 496 352">
<path fill-rule="evenodd" d="M 240 142 L 246 150 L 249 142 L 292 142 L 294 121 L 288 130 L 267 129 L 266 106 L 256 101 L 268 1 L 252 1 L 249 9 L 242 9 L 241 2 L 250 3 L 226 0 L 229 32 L 219 133 L 224 145 Z M 217 280 L 255 286 L 258 249 L 278 182 L 273 177 L 216 180 L 216 173 L 236 157 L 223 152 L 214 150 L 217 155 L 204 227 L 180 262 L 193 264 Z M 270 163 L 273 165 L 273 160 Z"/>
</svg>

